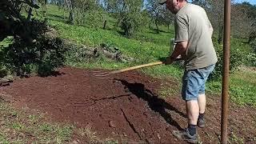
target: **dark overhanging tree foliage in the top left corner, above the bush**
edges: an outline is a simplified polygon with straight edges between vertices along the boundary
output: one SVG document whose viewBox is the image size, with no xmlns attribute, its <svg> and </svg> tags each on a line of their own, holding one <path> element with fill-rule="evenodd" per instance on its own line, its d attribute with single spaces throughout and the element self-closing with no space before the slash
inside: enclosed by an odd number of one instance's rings
<svg viewBox="0 0 256 144">
<path fill-rule="evenodd" d="M 0 2 L 0 41 L 7 36 L 22 38 L 27 42 L 33 41 L 29 28 L 31 12 L 29 11 L 27 18 L 21 15 L 22 6 L 24 5 L 39 8 L 29 0 L 2 0 Z"/>
</svg>

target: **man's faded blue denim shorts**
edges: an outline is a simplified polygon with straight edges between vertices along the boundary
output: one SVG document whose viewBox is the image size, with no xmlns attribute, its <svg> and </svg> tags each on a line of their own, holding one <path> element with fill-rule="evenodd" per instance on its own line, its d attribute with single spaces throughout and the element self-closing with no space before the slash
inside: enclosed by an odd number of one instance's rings
<svg viewBox="0 0 256 144">
<path fill-rule="evenodd" d="M 185 70 L 182 78 L 182 99 L 198 99 L 198 94 L 205 94 L 206 80 L 214 70 L 215 64 L 195 70 Z"/>
</svg>

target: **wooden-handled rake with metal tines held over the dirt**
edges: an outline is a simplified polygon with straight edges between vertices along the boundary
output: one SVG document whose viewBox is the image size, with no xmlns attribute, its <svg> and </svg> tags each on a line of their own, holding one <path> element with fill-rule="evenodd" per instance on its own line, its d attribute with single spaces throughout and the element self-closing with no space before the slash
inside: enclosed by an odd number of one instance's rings
<svg viewBox="0 0 256 144">
<path fill-rule="evenodd" d="M 132 67 L 128 67 L 126 69 L 121 69 L 121 70 L 114 70 L 114 71 L 96 70 L 96 71 L 92 71 L 92 73 L 90 73 L 90 75 L 95 78 L 106 79 L 106 78 L 110 78 L 110 76 L 112 74 L 119 74 L 119 73 L 126 72 L 129 70 L 136 70 L 136 69 L 140 69 L 143 67 L 156 66 L 156 65 L 161 65 L 161 64 L 163 64 L 163 62 L 151 62 L 151 63 L 147 63 L 144 65 L 132 66 Z"/>
</svg>

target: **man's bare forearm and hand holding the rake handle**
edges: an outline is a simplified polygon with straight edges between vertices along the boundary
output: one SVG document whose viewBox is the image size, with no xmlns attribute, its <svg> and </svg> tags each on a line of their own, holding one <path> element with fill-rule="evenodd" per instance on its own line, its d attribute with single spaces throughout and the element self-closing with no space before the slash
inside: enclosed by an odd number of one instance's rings
<svg viewBox="0 0 256 144">
<path fill-rule="evenodd" d="M 170 55 L 170 57 L 166 58 L 166 61 L 164 62 L 166 65 L 170 65 L 172 62 L 175 61 L 175 59 L 180 55 L 186 52 L 187 48 L 187 41 L 183 42 L 177 42 L 173 53 Z"/>
</svg>

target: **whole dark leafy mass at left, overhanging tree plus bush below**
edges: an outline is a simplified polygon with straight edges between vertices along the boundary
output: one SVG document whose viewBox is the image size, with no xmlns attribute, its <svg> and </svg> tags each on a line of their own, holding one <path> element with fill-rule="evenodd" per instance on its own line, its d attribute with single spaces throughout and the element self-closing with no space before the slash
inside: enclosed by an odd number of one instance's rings
<svg viewBox="0 0 256 144">
<path fill-rule="evenodd" d="M 21 14 L 23 6 L 30 6 L 26 18 Z M 18 76 L 31 73 L 35 66 L 38 74 L 50 74 L 65 62 L 62 40 L 48 38 L 46 23 L 30 19 L 33 8 L 39 6 L 30 0 L 0 2 L 0 41 L 7 36 L 14 38 L 13 43 L 0 50 L 0 67 Z"/>
</svg>

